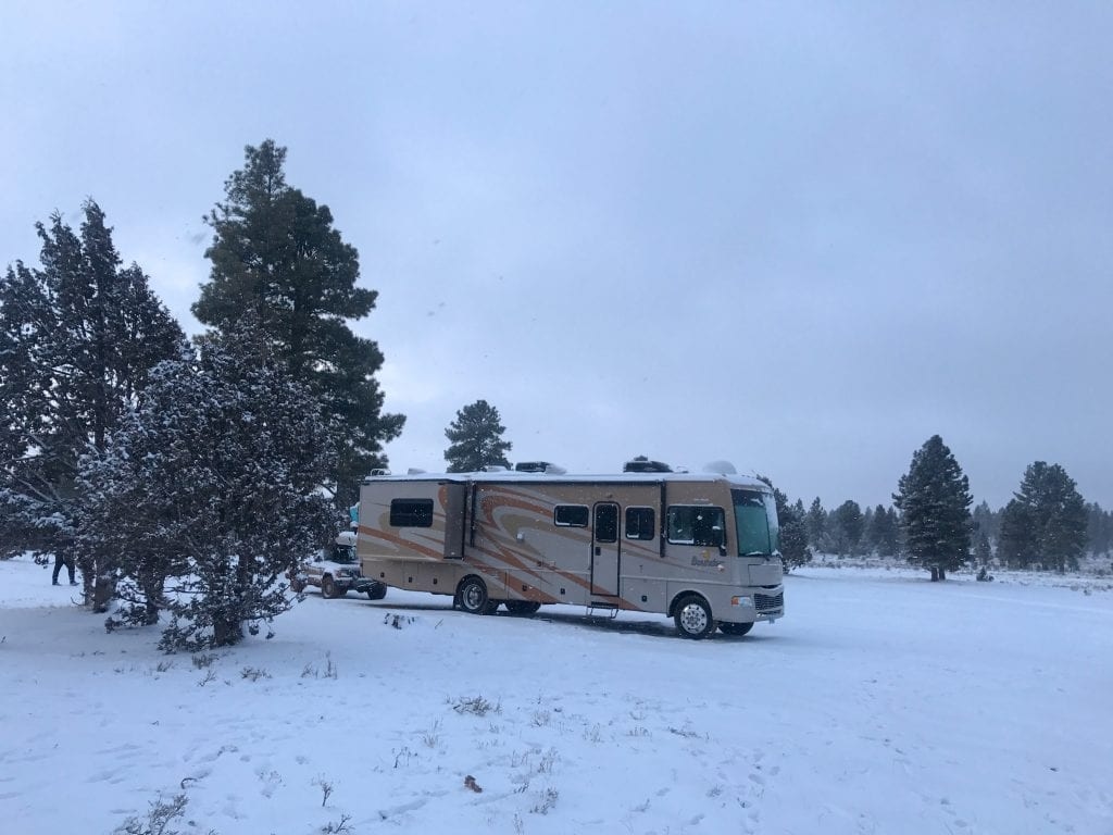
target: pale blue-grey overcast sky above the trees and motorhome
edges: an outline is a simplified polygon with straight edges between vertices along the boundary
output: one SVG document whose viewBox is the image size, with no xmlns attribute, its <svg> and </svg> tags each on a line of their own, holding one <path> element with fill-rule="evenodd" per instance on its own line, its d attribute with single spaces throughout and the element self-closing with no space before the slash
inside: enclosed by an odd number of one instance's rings
<svg viewBox="0 0 1113 835">
<path fill-rule="evenodd" d="M 727 459 L 888 504 L 1113 508 L 1113 4 L 0 4 L 0 265 L 93 197 L 196 333 L 201 216 L 288 148 L 380 292 L 395 471 L 495 405 L 512 460 Z"/>
</svg>

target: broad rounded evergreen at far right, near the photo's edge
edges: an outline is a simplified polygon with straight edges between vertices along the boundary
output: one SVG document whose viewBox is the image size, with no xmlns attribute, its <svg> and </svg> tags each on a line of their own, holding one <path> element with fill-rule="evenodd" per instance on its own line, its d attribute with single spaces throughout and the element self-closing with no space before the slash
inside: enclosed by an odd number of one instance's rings
<svg viewBox="0 0 1113 835">
<path fill-rule="evenodd" d="M 1077 569 L 1086 549 L 1086 507 L 1074 479 L 1058 464 L 1036 461 L 1024 471 L 1021 489 L 1005 508 L 1002 550 L 1009 564 L 1034 562 L 1062 572 Z"/>
</svg>

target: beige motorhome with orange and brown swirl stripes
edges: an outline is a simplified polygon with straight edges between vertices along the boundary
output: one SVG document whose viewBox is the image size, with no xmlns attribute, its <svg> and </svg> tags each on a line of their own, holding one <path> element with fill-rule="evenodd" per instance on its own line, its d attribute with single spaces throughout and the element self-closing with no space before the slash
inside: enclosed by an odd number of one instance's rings
<svg viewBox="0 0 1113 835">
<path fill-rule="evenodd" d="M 769 488 L 735 474 L 375 475 L 356 550 L 365 577 L 465 611 L 660 612 L 702 638 L 784 615 L 777 534 Z"/>
</svg>

